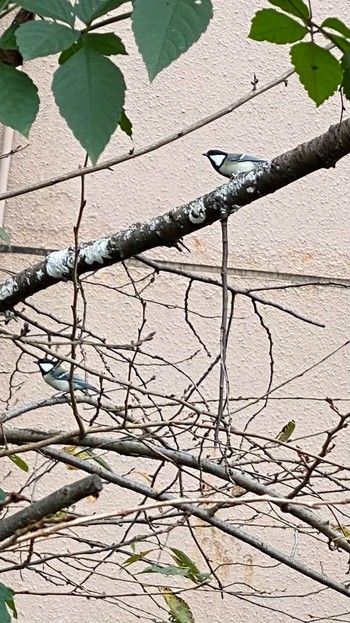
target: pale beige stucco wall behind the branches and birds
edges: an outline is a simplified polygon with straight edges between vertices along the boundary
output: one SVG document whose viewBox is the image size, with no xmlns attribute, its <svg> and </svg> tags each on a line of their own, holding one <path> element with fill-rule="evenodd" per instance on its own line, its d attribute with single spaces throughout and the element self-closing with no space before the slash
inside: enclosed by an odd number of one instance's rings
<svg viewBox="0 0 350 623">
<path fill-rule="evenodd" d="M 247 3 L 243 0 L 215 0 L 214 4 L 214 18 L 207 33 L 151 85 L 132 41 L 130 29 L 124 24 L 118 27 L 118 33 L 125 40 L 130 54 L 122 58 L 120 63 L 128 85 L 126 110 L 133 123 L 134 135 L 131 142 L 118 131 L 103 158 L 122 154 L 131 147 L 139 148 L 153 143 L 234 102 L 251 90 L 253 73 L 257 75 L 259 85 L 262 85 L 289 68 L 287 48 L 247 40 L 250 19 L 255 10 L 261 8 L 260 1 Z M 314 5 L 319 20 L 329 14 L 336 14 L 347 21 L 348 6 L 345 0 L 336 4 L 315 2 Z M 12 160 L 9 188 L 59 175 L 83 164 L 83 151 L 59 117 L 50 95 L 54 66 L 54 59 L 26 65 L 26 70 L 39 85 L 42 103 L 28 147 Z M 288 86 L 280 85 L 271 89 L 234 113 L 183 139 L 152 154 L 123 163 L 113 171 L 90 175 L 86 179 L 87 205 L 80 231 L 81 240 L 104 236 L 135 221 L 163 213 L 220 184 L 223 180 L 201 156 L 209 148 L 243 151 L 271 158 L 321 134 L 339 120 L 339 115 L 338 95 L 320 109 L 315 109 L 293 76 Z M 16 136 L 15 144 L 18 143 L 23 145 L 26 141 Z M 303 283 L 307 280 L 302 278 L 305 275 L 333 277 L 349 285 L 349 192 L 349 159 L 346 158 L 335 169 L 318 171 L 240 210 L 229 223 L 230 283 L 238 287 L 259 288 L 295 281 Z M 71 245 L 79 201 L 79 180 L 24 194 L 7 201 L 4 227 L 10 233 L 13 244 L 45 248 Z M 219 277 L 219 225 L 190 236 L 186 244 L 190 254 L 180 255 L 173 249 L 157 249 L 150 256 L 175 263 L 186 262 L 189 269 L 197 271 L 210 265 L 210 274 Z M 0 268 L 3 277 L 7 276 L 6 270 L 20 270 L 30 261 L 34 262 L 35 258 L 2 255 Z M 236 275 L 237 268 L 247 269 L 248 272 L 244 277 Z M 249 272 L 258 270 L 271 274 L 259 278 L 256 272 Z M 203 272 L 206 271 L 203 269 Z M 289 277 L 279 279 L 275 273 L 288 273 Z M 141 277 L 145 271 L 138 268 L 134 269 L 133 274 L 135 278 Z M 124 283 L 126 275 L 121 267 L 116 266 L 95 275 L 91 281 L 115 285 Z M 186 286 L 187 283 L 180 278 L 169 279 L 161 275 L 149 291 L 150 298 L 182 306 Z M 87 285 L 86 290 L 91 297 L 88 322 L 92 330 L 99 331 L 111 341 L 125 342 L 136 338 L 140 322 L 137 303 L 122 294 L 116 297 L 115 293 L 97 290 L 92 286 Z M 325 328 L 314 327 L 272 308 L 262 309 L 274 339 L 274 386 L 321 360 L 348 339 L 349 298 L 345 288 L 308 286 L 265 293 L 265 296 L 325 324 Z M 70 285 L 61 284 L 50 292 L 39 294 L 33 302 L 45 311 L 53 311 L 70 319 L 71 300 Z M 191 304 L 193 309 L 202 314 L 194 317 L 193 322 L 214 356 L 219 351 L 219 290 L 203 284 L 196 286 L 191 295 Z M 213 317 L 204 319 L 208 310 Z M 259 396 L 266 391 L 269 381 L 267 335 L 246 299 L 237 299 L 235 315 L 237 319 L 233 325 L 229 352 L 232 396 Z M 189 357 L 198 349 L 198 342 L 185 325 L 180 309 L 169 310 L 159 305 L 149 305 L 147 332 L 153 330 L 156 336 L 149 347 L 150 352 L 163 353 L 176 361 Z M 4 352 L 0 362 L 1 371 L 8 373 L 13 369 L 17 351 L 9 346 Z M 202 352 L 194 361 L 188 361 L 185 369 L 195 378 L 200 378 L 207 365 L 208 357 Z M 316 399 L 326 396 L 344 400 L 349 398 L 348 365 L 348 350 L 343 348 L 324 364 L 287 385 L 276 397 L 294 399 L 270 400 L 255 420 L 255 430 L 274 436 L 292 418 L 297 422 L 298 438 L 311 431 L 325 430 L 329 422 L 333 422 L 333 414 L 330 414 L 324 402 Z M 35 370 L 34 362 L 29 358 L 23 360 L 21 373 L 17 373 L 15 379 L 24 381 L 24 384 L 16 390 L 11 404 L 30 401 L 33 396 L 38 398 L 50 395 L 49 388 L 42 384 Z M 117 370 L 125 374 L 122 365 L 117 366 Z M 180 393 L 186 387 L 185 380 L 175 371 L 169 375 L 168 370 L 162 373 L 157 369 L 156 375 L 153 387 L 165 393 L 171 393 L 174 387 Z M 3 379 L 3 392 L 6 392 L 8 377 Z M 217 397 L 217 392 L 217 375 L 214 374 L 208 380 L 206 393 L 208 397 Z M 238 406 L 242 404 L 238 401 Z M 345 410 L 345 403 L 339 405 Z M 235 424 L 243 428 L 253 411 L 250 408 L 238 413 Z M 69 417 L 68 409 L 56 409 L 55 427 L 67 426 Z M 37 411 L 18 420 L 17 425 L 50 427 L 51 421 L 47 411 Z M 311 438 L 304 443 L 312 451 L 319 448 L 319 439 L 314 443 Z M 348 462 L 345 433 L 340 436 L 338 447 L 339 460 Z M 34 456 L 28 455 L 27 458 L 34 468 Z M 123 473 L 133 466 L 133 461 L 126 459 L 118 459 L 115 464 L 116 469 Z M 18 489 L 25 483 L 26 476 L 19 474 L 10 463 L 6 464 L 6 468 L 6 488 Z M 146 464 L 143 469 L 147 468 Z M 54 470 L 50 478 L 40 481 L 35 495 L 39 497 L 50 488 L 59 486 L 62 479 L 74 480 L 75 474 L 71 475 L 63 467 Z M 113 507 L 115 503 L 104 492 L 94 508 L 96 512 L 101 512 Z M 128 503 L 129 497 L 118 500 L 121 505 Z M 296 547 L 292 535 L 286 536 L 286 531 L 267 531 L 266 534 L 266 538 L 271 538 L 275 546 L 280 546 L 288 553 Z M 185 535 L 181 538 L 185 538 Z M 293 612 L 296 607 L 301 620 L 307 618 L 311 607 L 313 614 L 318 616 L 330 616 L 335 611 L 348 609 L 345 597 L 326 592 L 317 597 L 318 602 L 315 604 L 315 596 L 311 594 L 317 588 L 314 583 L 310 581 L 308 584 L 305 578 L 298 577 L 291 570 L 282 570 L 281 567 L 267 570 L 254 567 L 261 563 L 260 555 L 238 542 L 233 545 L 231 539 L 218 537 L 209 528 L 203 528 L 202 539 L 204 545 L 210 543 L 213 546 L 216 564 L 223 562 L 234 565 L 237 561 L 243 561 L 243 575 L 240 567 L 230 568 L 232 577 L 237 581 L 259 587 L 262 591 L 273 590 L 278 585 L 281 590 L 285 588 L 288 593 L 295 595 L 310 592 L 310 596 L 302 600 L 295 599 L 286 604 L 286 600 L 281 599 L 274 603 L 276 608 L 289 612 Z M 184 549 L 186 545 L 192 547 L 185 541 L 182 545 Z M 313 543 L 310 540 L 304 543 L 301 539 L 297 545 L 297 553 L 302 553 L 305 560 L 309 558 L 313 561 L 312 565 L 320 569 L 317 539 Z M 198 555 L 195 551 L 192 553 Z M 344 581 L 346 558 L 344 553 L 333 553 L 322 562 L 327 572 L 339 581 Z M 268 564 L 266 558 L 263 563 Z M 18 576 L 10 578 L 10 581 L 14 588 L 21 588 Z M 33 590 L 45 590 L 39 579 L 31 578 L 31 582 L 33 584 L 30 588 Z M 106 592 L 113 590 L 111 583 L 107 584 L 104 586 Z M 228 605 L 227 599 L 221 600 L 218 595 L 207 596 L 205 600 L 193 595 L 189 601 L 196 621 L 206 621 L 208 616 L 213 622 L 228 622 L 239 617 L 242 623 L 248 623 L 253 616 L 259 617 L 260 621 L 290 620 L 285 614 L 276 614 L 273 619 L 269 611 L 248 602 L 232 600 Z M 77 604 L 73 598 L 62 601 L 55 597 L 18 596 L 16 603 L 20 623 L 42 623 L 49 616 L 52 621 L 60 623 L 80 623 L 83 617 L 89 621 L 115 620 L 115 609 L 108 602 L 81 600 Z M 127 615 L 125 617 L 127 620 Z"/>
</svg>

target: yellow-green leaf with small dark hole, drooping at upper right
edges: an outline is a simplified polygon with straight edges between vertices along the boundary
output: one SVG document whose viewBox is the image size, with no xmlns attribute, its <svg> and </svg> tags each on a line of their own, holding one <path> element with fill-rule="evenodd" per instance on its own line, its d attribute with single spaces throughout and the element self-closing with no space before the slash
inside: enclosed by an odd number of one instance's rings
<svg viewBox="0 0 350 623">
<path fill-rule="evenodd" d="M 290 55 L 300 82 L 316 106 L 320 106 L 341 83 L 340 62 L 329 50 L 311 41 L 297 43 L 291 48 Z"/>
</svg>

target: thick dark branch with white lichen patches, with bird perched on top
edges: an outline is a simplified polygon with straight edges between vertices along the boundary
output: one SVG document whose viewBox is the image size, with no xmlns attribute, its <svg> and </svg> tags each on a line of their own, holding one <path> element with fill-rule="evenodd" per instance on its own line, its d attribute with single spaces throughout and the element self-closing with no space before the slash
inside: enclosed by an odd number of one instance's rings
<svg viewBox="0 0 350 623">
<path fill-rule="evenodd" d="M 158 246 L 176 245 L 184 236 L 211 225 L 227 214 L 321 169 L 335 166 L 350 153 L 350 120 L 275 158 L 269 165 L 230 181 L 161 216 L 135 223 L 113 236 L 79 247 L 77 274 L 110 266 Z M 0 285 L 0 311 L 12 308 L 28 296 L 59 281 L 72 278 L 75 251 L 50 253 Z"/>
</svg>

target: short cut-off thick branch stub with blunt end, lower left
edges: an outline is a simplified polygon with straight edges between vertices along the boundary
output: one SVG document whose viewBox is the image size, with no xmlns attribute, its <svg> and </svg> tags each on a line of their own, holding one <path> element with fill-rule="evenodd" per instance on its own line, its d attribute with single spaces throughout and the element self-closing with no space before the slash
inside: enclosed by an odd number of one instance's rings
<svg viewBox="0 0 350 623">
<path fill-rule="evenodd" d="M 0 521 L 0 541 L 14 535 L 18 530 L 27 530 L 30 524 L 44 519 L 58 511 L 68 508 L 89 495 L 102 490 L 102 480 L 97 474 L 87 476 L 70 485 L 50 493 L 45 498 L 33 502 L 28 508 Z"/>
</svg>

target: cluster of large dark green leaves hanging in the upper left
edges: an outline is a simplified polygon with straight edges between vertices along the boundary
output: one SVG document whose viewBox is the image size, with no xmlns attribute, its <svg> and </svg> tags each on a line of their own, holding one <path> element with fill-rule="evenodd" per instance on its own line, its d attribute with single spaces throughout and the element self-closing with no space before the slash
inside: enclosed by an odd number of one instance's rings
<svg viewBox="0 0 350 623">
<path fill-rule="evenodd" d="M 1 7 L 6 7 L 4 0 Z M 61 53 L 52 91 L 60 114 L 91 161 L 98 157 L 118 124 L 132 136 L 132 123 L 124 109 L 125 82 L 120 69 L 106 56 L 126 54 L 114 32 L 95 33 L 96 21 L 124 4 L 131 11 L 115 16 L 116 22 L 132 16 L 137 45 L 153 79 L 183 54 L 205 31 L 212 17 L 211 0 L 22 0 L 19 3 L 40 19 L 13 23 L 0 36 L 1 50 L 15 50 L 10 65 Z M 32 16 L 31 16 L 32 18 Z M 83 24 L 83 28 L 78 28 Z M 8 55 L 0 56 L 6 63 Z M 2 75 L 1 75 L 2 74 Z M 0 65 L 0 121 L 28 136 L 39 99 L 31 79 Z"/>
</svg>

